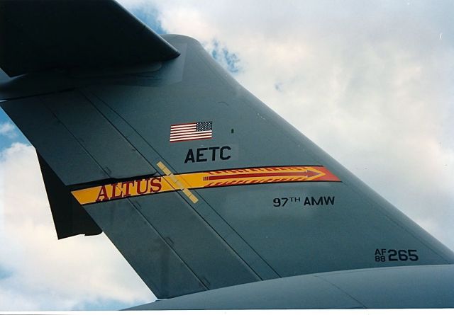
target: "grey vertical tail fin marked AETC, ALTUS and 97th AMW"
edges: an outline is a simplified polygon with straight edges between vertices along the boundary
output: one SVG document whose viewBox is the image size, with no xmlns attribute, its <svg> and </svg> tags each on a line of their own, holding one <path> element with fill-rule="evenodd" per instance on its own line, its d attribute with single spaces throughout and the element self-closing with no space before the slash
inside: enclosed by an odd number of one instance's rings
<svg viewBox="0 0 454 315">
<path fill-rule="evenodd" d="M 89 76 L 28 74 L 0 89 L 38 151 L 60 238 L 104 231 L 159 298 L 454 262 L 199 42 L 162 41 L 181 55 Z"/>
</svg>

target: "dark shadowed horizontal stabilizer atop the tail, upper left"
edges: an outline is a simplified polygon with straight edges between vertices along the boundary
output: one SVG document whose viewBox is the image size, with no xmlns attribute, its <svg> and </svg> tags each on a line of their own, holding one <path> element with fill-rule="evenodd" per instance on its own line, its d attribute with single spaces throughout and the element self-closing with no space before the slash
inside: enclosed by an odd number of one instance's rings
<svg viewBox="0 0 454 315">
<path fill-rule="evenodd" d="M 115 1 L 0 1 L 0 67 L 9 76 L 161 62 L 178 54 Z"/>
</svg>

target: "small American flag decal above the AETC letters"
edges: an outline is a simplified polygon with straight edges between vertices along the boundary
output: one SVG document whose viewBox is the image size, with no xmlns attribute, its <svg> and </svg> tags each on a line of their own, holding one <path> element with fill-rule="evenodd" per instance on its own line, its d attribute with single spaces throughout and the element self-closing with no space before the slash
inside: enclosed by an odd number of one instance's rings
<svg viewBox="0 0 454 315">
<path fill-rule="evenodd" d="M 170 142 L 211 139 L 213 122 L 187 122 L 170 125 Z"/>
</svg>

